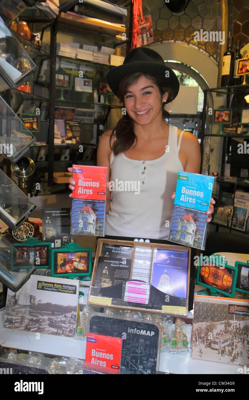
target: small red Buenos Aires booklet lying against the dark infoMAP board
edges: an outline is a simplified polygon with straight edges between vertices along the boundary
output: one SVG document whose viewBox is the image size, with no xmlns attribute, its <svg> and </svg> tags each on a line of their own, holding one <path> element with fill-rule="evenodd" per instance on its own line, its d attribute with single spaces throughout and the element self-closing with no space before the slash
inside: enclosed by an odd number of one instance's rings
<svg viewBox="0 0 249 400">
<path fill-rule="evenodd" d="M 86 337 L 86 362 L 99 367 L 120 370 L 122 338 L 88 333 Z"/>
</svg>

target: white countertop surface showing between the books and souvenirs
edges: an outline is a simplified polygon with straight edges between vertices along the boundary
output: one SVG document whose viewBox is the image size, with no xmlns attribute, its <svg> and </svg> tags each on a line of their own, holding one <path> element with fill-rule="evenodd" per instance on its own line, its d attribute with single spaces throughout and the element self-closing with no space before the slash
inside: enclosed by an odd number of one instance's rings
<svg viewBox="0 0 249 400">
<path fill-rule="evenodd" d="M 235 261 L 247 262 L 248 254 L 234 253 L 216 253 L 225 256 L 229 265 L 234 266 Z M 202 287 L 196 286 L 196 292 Z M 80 304 L 87 304 L 89 292 L 88 286 L 80 286 L 80 291 L 84 293 Z M 97 311 L 97 309 L 96 309 Z M 193 318 L 189 312 L 188 317 Z M 0 345 L 7 348 L 16 348 L 19 350 L 41 352 L 57 356 L 75 357 L 85 359 L 86 342 L 83 340 L 74 340 L 62 336 L 53 336 L 35 332 L 24 332 L 2 328 L 4 319 L 4 310 L 0 312 Z M 160 354 L 159 371 L 173 374 L 238 374 L 240 366 L 233 364 L 221 364 L 219 362 L 194 360 L 191 356 L 183 354 L 169 354 L 162 352 Z"/>
</svg>

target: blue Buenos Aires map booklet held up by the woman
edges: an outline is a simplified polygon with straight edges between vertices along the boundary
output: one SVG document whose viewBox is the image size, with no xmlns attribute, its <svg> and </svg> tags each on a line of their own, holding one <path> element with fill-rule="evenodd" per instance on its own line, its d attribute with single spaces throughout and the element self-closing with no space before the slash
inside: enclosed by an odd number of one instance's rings
<svg viewBox="0 0 249 400">
<path fill-rule="evenodd" d="M 169 241 L 205 249 L 213 176 L 178 172 Z"/>
</svg>

